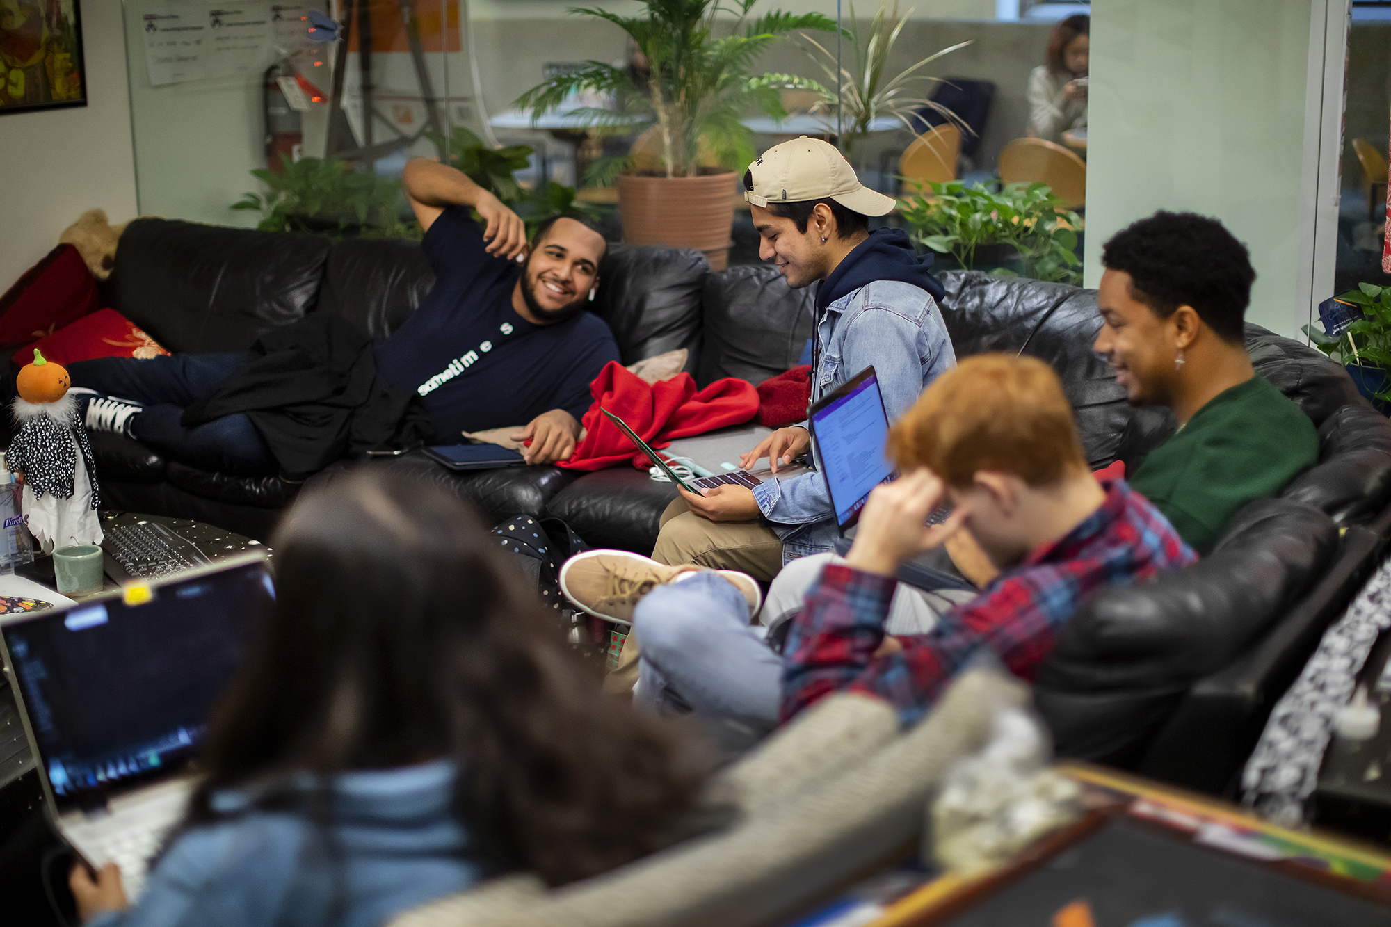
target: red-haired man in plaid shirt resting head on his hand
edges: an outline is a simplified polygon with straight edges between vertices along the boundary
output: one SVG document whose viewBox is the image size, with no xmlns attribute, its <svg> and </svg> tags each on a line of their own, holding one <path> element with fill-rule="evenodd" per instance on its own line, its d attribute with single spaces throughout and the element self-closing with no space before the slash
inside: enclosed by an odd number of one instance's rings
<svg viewBox="0 0 1391 927">
<path fill-rule="evenodd" d="M 782 656 L 750 625 L 747 578 L 647 561 L 634 700 L 715 721 L 726 746 L 844 689 L 892 702 L 911 724 L 976 653 L 1029 679 L 1096 590 L 1196 561 L 1124 480 L 1092 475 L 1072 406 L 1042 360 L 967 358 L 893 427 L 889 452 L 903 476 L 871 493 L 846 562 L 825 568 Z M 926 526 L 943 502 L 951 515 Z M 932 632 L 886 636 L 899 565 L 961 529 L 1000 573 Z M 586 572 L 600 573 L 586 564 L 605 557 L 644 566 L 634 554 L 588 554 L 562 582 L 581 587 Z"/>
</svg>

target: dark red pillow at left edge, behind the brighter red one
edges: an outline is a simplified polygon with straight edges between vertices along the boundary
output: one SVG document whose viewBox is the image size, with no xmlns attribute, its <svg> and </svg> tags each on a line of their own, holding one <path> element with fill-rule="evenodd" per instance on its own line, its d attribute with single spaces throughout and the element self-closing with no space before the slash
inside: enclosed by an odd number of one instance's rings
<svg viewBox="0 0 1391 927">
<path fill-rule="evenodd" d="M 58 245 L 0 296 L 0 347 L 50 335 L 97 306 L 96 280 L 82 255 Z"/>
</svg>

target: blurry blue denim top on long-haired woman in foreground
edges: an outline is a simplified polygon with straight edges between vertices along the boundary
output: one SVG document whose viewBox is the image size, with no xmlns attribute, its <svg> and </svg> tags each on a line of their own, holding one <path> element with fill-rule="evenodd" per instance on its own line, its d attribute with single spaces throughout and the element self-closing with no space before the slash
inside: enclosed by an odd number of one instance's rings
<svg viewBox="0 0 1391 927">
<path fill-rule="evenodd" d="M 135 908 L 96 914 L 86 927 L 320 924 L 334 910 L 341 927 L 384 924 L 481 876 L 465 855 L 453 781 L 448 760 L 339 775 L 331 853 L 307 813 L 255 810 L 248 792 L 216 792 L 213 809 L 234 816 L 185 831 Z"/>
</svg>

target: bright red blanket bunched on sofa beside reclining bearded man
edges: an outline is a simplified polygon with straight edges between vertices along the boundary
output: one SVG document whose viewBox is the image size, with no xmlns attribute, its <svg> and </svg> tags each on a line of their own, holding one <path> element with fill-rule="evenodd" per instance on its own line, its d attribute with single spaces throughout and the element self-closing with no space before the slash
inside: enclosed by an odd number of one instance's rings
<svg viewBox="0 0 1391 927">
<path fill-rule="evenodd" d="M 672 438 L 702 434 L 726 425 L 741 425 L 758 413 L 758 393 L 747 380 L 725 377 L 704 390 L 696 390 L 689 373 L 669 380 L 644 383 L 616 360 L 600 370 L 590 384 L 594 405 L 584 413 L 584 438 L 570 459 L 556 466 L 570 470 L 601 470 L 632 462 L 647 468 L 650 462 L 600 408 L 605 408 L 654 448 L 666 447 Z"/>
</svg>

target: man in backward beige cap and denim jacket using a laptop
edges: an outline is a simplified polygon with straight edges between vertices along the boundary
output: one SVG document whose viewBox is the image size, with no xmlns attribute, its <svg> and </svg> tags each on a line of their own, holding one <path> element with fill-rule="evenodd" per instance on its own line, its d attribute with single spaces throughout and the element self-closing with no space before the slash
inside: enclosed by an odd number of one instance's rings
<svg viewBox="0 0 1391 927">
<path fill-rule="evenodd" d="M 811 401 L 874 365 L 890 420 L 956 365 L 931 256 L 897 228 L 869 232 L 869 217 L 894 207 L 860 182 L 836 150 L 805 135 L 764 152 L 744 173 L 744 198 L 759 256 L 793 288 L 821 283 Z M 773 472 L 814 451 L 804 426 L 780 429 L 740 459 L 769 458 Z M 832 550 L 836 519 L 819 472 L 765 480 L 753 490 L 682 491 L 662 515 L 652 558 L 737 569 L 769 580 L 794 557 Z"/>
</svg>

